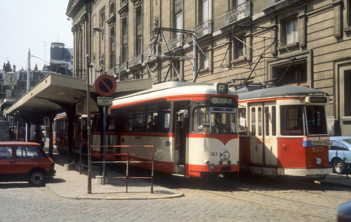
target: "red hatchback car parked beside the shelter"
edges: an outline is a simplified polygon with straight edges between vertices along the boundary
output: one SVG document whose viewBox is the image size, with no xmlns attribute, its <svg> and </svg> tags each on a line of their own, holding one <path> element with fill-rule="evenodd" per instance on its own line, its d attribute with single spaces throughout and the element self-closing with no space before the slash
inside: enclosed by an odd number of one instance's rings
<svg viewBox="0 0 351 222">
<path fill-rule="evenodd" d="M 0 142 L 1 182 L 28 181 L 39 186 L 55 174 L 54 167 L 38 143 Z"/>
</svg>

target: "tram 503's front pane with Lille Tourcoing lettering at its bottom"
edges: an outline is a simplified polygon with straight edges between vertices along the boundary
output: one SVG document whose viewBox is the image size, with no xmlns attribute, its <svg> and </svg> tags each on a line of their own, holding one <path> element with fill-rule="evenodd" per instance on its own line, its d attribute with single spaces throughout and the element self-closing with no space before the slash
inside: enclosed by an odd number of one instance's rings
<svg viewBox="0 0 351 222">
<path fill-rule="evenodd" d="M 280 116 L 281 134 L 283 136 L 302 136 L 303 127 L 303 106 L 282 106 Z"/>
</svg>

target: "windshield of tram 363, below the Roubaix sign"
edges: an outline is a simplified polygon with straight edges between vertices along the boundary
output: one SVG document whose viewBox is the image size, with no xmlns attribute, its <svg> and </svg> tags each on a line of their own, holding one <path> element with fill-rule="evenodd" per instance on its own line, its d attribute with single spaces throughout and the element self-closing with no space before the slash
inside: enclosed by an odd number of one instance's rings
<svg viewBox="0 0 351 222">
<path fill-rule="evenodd" d="M 194 110 L 193 132 L 236 133 L 235 109 L 197 107 Z"/>
</svg>

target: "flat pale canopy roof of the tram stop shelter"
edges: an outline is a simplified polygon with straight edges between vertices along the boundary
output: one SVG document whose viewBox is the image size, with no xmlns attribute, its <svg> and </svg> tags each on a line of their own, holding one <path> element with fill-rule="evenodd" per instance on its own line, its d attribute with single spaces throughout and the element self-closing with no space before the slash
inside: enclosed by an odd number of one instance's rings
<svg viewBox="0 0 351 222">
<path fill-rule="evenodd" d="M 132 93 L 150 88 L 152 79 L 117 81 L 117 89 L 111 97 L 118 97 L 119 94 L 128 91 Z M 98 96 L 93 86 L 90 87 L 90 92 Z M 18 113 L 21 118 L 49 116 L 52 112 L 64 111 L 59 104 L 79 103 L 86 94 L 85 79 L 49 73 L 5 112 L 7 115 Z"/>
</svg>

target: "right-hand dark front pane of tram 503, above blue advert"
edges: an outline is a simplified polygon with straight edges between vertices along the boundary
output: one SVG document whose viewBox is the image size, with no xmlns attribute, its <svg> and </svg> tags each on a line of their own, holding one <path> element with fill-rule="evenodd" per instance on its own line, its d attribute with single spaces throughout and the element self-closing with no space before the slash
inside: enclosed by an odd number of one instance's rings
<svg viewBox="0 0 351 222">
<path fill-rule="evenodd" d="M 306 106 L 308 134 L 327 134 L 324 106 Z"/>
</svg>

